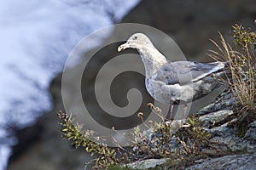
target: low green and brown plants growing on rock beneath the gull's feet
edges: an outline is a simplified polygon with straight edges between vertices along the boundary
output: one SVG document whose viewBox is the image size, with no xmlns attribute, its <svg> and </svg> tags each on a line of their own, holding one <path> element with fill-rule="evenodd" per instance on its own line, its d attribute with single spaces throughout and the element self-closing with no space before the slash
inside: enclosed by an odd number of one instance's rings
<svg viewBox="0 0 256 170">
<path fill-rule="evenodd" d="M 158 107 L 150 107 L 155 114 L 165 120 Z M 142 116 L 142 113 L 138 114 L 143 121 Z M 106 144 L 95 142 L 100 141 L 102 137 L 96 136 L 93 131 L 83 131 L 80 125 L 74 125 L 72 119 L 62 111 L 59 111 L 58 117 L 61 120 L 59 123 L 62 138 L 70 140 L 72 148 L 83 148 L 91 156 L 95 156 L 92 161 L 85 163 L 85 167 L 88 166 L 89 169 L 129 169 L 119 165 L 149 158 L 170 158 L 165 166 L 187 167 L 195 160 L 207 157 L 206 153 L 201 152 L 201 149 L 206 147 L 218 150 L 218 155 L 225 154 L 224 150 L 218 149 L 218 144 L 209 140 L 211 135 L 203 131 L 199 118 L 195 116 L 190 117 L 186 124 L 179 123 L 178 126 L 181 128 L 177 132 L 173 130 L 172 122 L 147 124 L 149 133 L 135 127 L 131 134 L 134 137 L 134 144 L 126 148 L 110 148 Z"/>
</svg>

